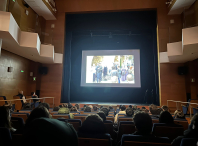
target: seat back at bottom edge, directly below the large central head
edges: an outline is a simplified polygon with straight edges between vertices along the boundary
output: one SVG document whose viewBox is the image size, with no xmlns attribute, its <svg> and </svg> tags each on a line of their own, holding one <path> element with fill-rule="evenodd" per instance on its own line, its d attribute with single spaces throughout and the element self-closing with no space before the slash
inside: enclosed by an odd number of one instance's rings
<svg viewBox="0 0 198 146">
<path fill-rule="evenodd" d="M 110 134 L 78 133 L 78 146 L 111 146 Z"/>
</svg>

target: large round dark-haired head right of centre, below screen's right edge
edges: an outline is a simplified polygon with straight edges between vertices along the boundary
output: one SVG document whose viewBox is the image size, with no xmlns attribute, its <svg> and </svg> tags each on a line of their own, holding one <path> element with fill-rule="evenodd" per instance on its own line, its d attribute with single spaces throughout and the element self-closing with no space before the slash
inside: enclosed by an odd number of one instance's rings
<svg viewBox="0 0 198 146">
<path fill-rule="evenodd" d="M 145 112 L 137 112 L 134 115 L 134 123 L 137 131 L 142 135 L 151 134 L 153 123 L 149 114 Z"/>
</svg>

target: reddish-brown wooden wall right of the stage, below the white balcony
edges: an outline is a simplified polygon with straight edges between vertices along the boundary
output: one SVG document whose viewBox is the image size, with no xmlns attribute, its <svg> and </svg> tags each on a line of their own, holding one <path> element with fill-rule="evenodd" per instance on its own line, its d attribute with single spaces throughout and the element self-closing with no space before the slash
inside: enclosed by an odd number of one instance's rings
<svg viewBox="0 0 198 146">
<path fill-rule="evenodd" d="M 177 69 L 184 64 L 160 64 L 161 105 L 167 100 L 186 101 L 185 76 L 178 75 Z M 175 104 L 171 104 L 175 106 Z"/>
</svg>

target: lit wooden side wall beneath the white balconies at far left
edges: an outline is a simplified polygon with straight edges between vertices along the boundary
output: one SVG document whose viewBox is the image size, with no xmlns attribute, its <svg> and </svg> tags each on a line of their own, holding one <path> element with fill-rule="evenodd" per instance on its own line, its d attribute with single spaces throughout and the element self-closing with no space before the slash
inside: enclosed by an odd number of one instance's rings
<svg viewBox="0 0 198 146">
<path fill-rule="evenodd" d="M 37 77 L 39 63 L 28 60 L 5 50 L 1 50 L 0 57 L 0 95 L 12 99 L 23 90 L 24 95 L 30 95 L 35 91 L 39 81 L 33 81 L 30 72 Z M 13 72 L 8 72 L 8 67 L 13 67 Z M 24 72 L 21 72 L 23 70 Z"/>
</svg>

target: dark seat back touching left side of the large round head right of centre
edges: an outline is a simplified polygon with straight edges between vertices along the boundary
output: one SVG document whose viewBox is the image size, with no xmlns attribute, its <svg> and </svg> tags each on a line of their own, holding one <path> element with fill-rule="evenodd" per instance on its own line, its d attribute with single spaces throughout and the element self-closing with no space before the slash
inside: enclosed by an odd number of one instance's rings
<svg viewBox="0 0 198 146">
<path fill-rule="evenodd" d="M 132 134 L 136 131 L 135 124 L 131 121 L 120 121 L 118 126 L 118 139 L 122 138 L 123 134 Z"/>
</svg>

